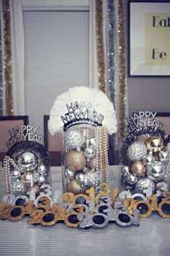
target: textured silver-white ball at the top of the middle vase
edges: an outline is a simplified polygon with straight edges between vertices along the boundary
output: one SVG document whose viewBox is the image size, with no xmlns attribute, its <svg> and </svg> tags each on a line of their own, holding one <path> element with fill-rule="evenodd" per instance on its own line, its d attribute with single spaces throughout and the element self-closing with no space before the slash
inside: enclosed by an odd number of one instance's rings
<svg viewBox="0 0 170 256">
<path fill-rule="evenodd" d="M 79 130 L 66 132 L 65 143 L 68 150 L 81 150 L 85 142 L 85 137 Z"/>
</svg>

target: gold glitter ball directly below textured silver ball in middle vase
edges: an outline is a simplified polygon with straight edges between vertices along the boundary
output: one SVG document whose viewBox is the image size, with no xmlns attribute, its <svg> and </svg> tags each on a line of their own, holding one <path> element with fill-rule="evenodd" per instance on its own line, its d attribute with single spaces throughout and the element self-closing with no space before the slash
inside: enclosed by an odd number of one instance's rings
<svg viewBox="0 0 170 256">
<path fill-rule="evenodd" d="M 66 155 L 66 163 L 68 168 L 73 171 L 79 171 L 86 166 L 86 157 L 84 151 L 70 151 Z"/>
</svg>

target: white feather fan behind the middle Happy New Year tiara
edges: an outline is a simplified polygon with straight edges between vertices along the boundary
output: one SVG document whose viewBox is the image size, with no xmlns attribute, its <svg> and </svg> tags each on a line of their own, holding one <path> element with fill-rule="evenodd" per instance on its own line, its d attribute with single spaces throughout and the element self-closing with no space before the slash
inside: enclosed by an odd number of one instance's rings
<svg viewBox="0 0 170 256">
<path fill-rule="evenodd" d="M 66 104 L 71 106 L 71 103 L 74 104 L 75 102 L 91 103 L 94 110 L 104 116 L 102 125 L 107 127 L 109 135 L 116 132 L 117 119 L 115 109 L 112 102 L 107 98 L 107 95 L 101 90 L 80 86 L 68 89 L 66 93 L 58 95 L 55 99 L 53 107 L 50 110 L 50 119 L 48 121 L 48 129 L 51 135 L 59 132 L 61 127 L 63 127 L 61 116 L 64 116 L 68 112 Z"/>
</svg>

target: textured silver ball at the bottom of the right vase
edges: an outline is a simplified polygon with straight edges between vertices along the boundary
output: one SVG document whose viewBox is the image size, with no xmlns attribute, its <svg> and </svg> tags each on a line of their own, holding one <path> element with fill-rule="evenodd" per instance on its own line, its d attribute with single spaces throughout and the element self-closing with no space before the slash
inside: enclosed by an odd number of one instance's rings
<svg viewBox="0 0 170 256">
<path fill-rule="evenodd" d="M 154 189 L 155 184 L 148 177 L 139 179 L 135 185 L 135 192 L 146 194 L 146 197 L 153 195 Z"/>
</svg>

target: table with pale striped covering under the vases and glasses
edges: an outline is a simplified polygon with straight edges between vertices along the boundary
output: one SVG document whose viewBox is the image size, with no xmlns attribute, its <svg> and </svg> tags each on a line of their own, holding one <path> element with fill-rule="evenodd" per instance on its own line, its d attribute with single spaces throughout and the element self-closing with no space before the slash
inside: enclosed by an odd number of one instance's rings
<svg viewBox="0 0 170 256">
<path fill-rule="evenodd" d="M 119 166 L 110 166 L 112 187 L 119 185 Z M 62 188 L 61 168 L 52 168 L 53 190 Z M 3 171 L 0 173 L 0 196 L 4 195 Z M 6 255 L 170 255 L 170 219 L 153 213 L 140 218 L 140 226 L 127 228 L 109 223 L 104 229 L 74 229 L 63 223 L 55 226 L 28 226 L 22 221 L 0 221 L 0 256 Z"/>
</svg>

